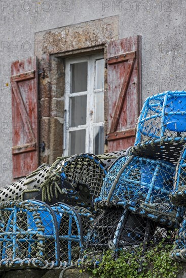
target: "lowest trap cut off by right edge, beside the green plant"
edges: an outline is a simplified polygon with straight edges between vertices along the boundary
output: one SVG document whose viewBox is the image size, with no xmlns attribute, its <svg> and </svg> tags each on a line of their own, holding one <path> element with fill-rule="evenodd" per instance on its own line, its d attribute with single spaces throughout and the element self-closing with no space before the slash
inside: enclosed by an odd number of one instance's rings
<svg viewBox="0 0 186 278">
<path fill-rule="evenodd" d="M 186 261 L 186 215 L 184 214 L 182 223 L 177 230 L 175 247 L 171 251 L 170 256 L 173 260 Z"/>
</svg>

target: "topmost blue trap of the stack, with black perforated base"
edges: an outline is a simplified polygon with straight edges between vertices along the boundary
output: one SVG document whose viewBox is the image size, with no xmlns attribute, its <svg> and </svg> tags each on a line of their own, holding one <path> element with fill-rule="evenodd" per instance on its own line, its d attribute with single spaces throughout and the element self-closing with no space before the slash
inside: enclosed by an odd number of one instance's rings
<svg viewBox="0 0 186 278">
<path fill-rule="evenodd" d="M 165 91 L 144 102 L 132 153 L 177 163 L 186 142 L 186 91 Z"/>
</svg>

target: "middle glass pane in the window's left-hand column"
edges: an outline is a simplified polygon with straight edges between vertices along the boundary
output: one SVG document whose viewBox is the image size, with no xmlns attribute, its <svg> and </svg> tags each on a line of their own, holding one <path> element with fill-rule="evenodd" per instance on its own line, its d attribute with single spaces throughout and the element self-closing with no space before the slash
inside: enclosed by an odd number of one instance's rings
<svg viewBox="0 0 186 278">
<path fill-rule="evenodd" d="M 70 126 L 86 124 L 87 96 L 70 98 Z"/>
</svg>

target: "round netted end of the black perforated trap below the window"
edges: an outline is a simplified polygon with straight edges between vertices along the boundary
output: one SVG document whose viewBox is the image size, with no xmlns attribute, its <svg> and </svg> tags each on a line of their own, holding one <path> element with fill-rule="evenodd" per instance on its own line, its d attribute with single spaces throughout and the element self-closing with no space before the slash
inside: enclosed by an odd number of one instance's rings
<svg viewBox="0 0 186 278">
<path fill-rule="evenodd" d="M 63 187 L 68 194 L 64 202 L 93 210 L 93 201 L 99 195 L 106 175 L 103 162 L 89 154 L 80 154 L 63 161 L 61 180 L 67 179 L 69 187 Z M 71 185 L 71 186 L 70 186 Z"/>
</svg>

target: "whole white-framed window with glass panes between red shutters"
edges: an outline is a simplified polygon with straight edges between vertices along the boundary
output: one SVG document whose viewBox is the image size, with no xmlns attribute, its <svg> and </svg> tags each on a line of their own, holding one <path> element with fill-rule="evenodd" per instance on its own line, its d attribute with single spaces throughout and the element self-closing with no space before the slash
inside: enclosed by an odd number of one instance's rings
<svg viewBox="0 0 186 278">
<path fill-rule="evenodd" d="M 64 155 L 104 152 L 104 59 L 65 60 Z"/>
</svg>

